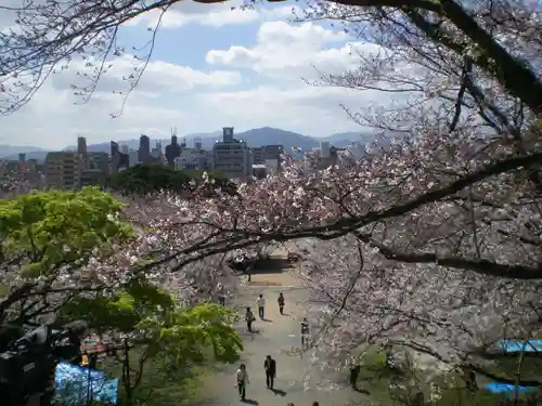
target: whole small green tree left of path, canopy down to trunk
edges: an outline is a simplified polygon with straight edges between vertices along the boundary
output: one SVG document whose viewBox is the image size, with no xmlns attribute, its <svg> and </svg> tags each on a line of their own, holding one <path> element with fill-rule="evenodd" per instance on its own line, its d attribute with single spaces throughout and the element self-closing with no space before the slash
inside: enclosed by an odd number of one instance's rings
<svg viewBox="0 0 542 406">
<path fill-rule="evenodd" d="M 212 303 L 186 307 L 143 277 L 117 294 L 96 292 L 63 307 L 66 319 L 82 318 L 89 327 L 115 343 L 113 363 L 105 369 L 119 375 L 125 405 L 153 404 L 179 398 L 170 385 L 193 377 L 205 362 L 231 363 L 238 358 L 242 340 L 233 327 L 231 309 Z"/>
</svg>

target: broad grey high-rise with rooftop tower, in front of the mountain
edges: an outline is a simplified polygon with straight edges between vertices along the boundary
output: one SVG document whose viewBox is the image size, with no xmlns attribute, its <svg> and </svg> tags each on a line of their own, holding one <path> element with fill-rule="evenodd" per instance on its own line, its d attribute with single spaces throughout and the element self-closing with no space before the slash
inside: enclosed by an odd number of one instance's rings
<svg viewBox="0 0 542 406">
<path fill-rule="evenodd" d="M 212 146 L 212 169 L 230 179 L 247 179 L 253 175 L 253 154 L 243 140 L 233 137 L 233 127 L 222 129 L 222 141 Z"/>
</svg>

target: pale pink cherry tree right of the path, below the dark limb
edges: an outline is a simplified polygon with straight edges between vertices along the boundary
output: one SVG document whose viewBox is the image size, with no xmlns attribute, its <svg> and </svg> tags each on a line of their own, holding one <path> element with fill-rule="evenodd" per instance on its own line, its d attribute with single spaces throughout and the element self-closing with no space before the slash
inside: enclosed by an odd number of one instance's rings
<svg viewBox="0 0 542 406">
<path fill-rule="evenodd" d="M 514 377 L 489 372 L 495 342 L 533 337 L 542 328 L 540 281 L 404 264 L 354 235 L 307 239 L 299 247 L 309 252 L 301 275 L 318 327 L 312 352 L 327 372 L 344 368 L 367 344 L 395 344 L 442 363 L 440 369 L 461 366 L 514 383 Z M 418 356 L 420 367 L 438 371 L 427 356 Z"/>
</svg>

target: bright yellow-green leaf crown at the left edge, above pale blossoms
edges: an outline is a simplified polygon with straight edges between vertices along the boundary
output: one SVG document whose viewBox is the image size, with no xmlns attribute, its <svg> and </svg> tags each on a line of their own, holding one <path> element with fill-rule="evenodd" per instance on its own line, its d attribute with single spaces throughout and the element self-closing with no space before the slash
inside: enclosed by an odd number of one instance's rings
<svg viewBox="0 0 542 406">
<path fill-rule="evenodd" d="M 0 200 L 0 254 L 23 257 L 22 270 L 37 277 L 61 264 L 82 262 L 112 238 L 128 237 L 118 217 L 124 205 L 95 187 L 77 192 L 31 192 Z"/>
</svg>

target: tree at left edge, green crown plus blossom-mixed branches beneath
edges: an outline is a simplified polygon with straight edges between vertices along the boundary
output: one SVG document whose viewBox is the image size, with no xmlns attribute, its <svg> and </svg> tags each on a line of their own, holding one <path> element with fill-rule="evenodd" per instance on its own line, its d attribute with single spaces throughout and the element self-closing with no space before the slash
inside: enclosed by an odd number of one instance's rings
<svg viewBox="0 0 542 406">
<path fill-rule="evenodd" d="M 39 322 L 81 291 L 101 288 L 87 265 L 99 250 L 130 238 L 122 208 L 95 187 L 0 199 L 0 323 Z"/>
</svg>

